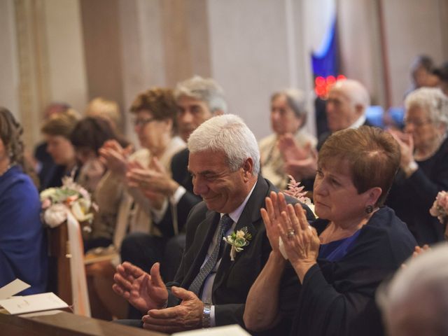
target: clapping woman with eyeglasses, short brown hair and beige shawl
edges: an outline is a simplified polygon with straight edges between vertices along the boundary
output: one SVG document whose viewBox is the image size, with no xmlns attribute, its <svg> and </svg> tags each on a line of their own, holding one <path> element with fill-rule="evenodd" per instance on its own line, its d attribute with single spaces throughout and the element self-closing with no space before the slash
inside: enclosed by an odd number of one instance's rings
<svg viewBox="0 0 448 336">
<path fill-rule="evenodd" d="M 130 255 L 129 258 L 133 258 L 134 263 L 138 263 L 134 258 L 144 260 L 145 265 L 139 266 L 147 268 L 148 265 L 151 266 L 161 260 L 167 237 L 174 235 L 174 230 L 161 228 L 157 224 L 158 211 L 162 210 L 165 197 L 158 194 L 144 195 L 135 183 L 127 179 L 127 174 L 131 169 L 155 169 L 155 167 L 171 172 L 173 155 L 186 145 L 176 135 L 177 107 L 172 90 L 155 87 L 142 92 L 134 99 L 130 112 L 134 116 L 134 131 L 141 149 L 131 154 L 130 147 L 123 148 L 115 140 L 106 141 L 99 149 L 108 172 L 99 181 L 95 192 L 99 206 L 95 223 L 113 234 L 113 246 L 116 251 L 122 248 L 120 252 L 123 258 L 126 258 L 125 255 Z M 141 239 L 137 240 L 138 244 L 131 246 L 132 251 L 123 251 L 121 243 L 127 235 L 141 236 Z M 136 251 L 139 251 L 138 255 L 135 255 Z M 113 301 L 115 295 L 111 293 L 111 285 L 114 268 L 111 267 L 111 263 L 96 265 L 90 272 L 96 275 L 95 287 L 100 297 Z M 107 289 L 109 293 L 105 293 Z M 123 308 L 120 302 L 104 303 L 113 315 L 124 317 L 117 311 Z M 98 317 L 110 318 L 110 316 Z"/>
</svg>

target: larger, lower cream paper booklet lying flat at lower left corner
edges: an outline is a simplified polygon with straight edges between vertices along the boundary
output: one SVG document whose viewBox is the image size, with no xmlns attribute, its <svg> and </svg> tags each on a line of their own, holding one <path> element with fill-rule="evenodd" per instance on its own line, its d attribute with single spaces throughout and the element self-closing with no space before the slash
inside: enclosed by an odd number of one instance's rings
<svg viewBox="0 0 448 336">
<path fill-rule="evenodd" d="M 13 296 L 6 300 L 0 300 L 0 305 L 12 315 L 69 307 L 55 293 Z"/>
</svg>

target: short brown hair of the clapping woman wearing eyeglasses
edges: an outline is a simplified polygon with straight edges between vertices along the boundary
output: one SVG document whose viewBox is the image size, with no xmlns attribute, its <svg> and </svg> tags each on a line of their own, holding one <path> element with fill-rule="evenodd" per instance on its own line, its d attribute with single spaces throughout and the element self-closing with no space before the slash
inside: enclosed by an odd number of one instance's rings
<svg viewBox="0 0 448 336">
<path fill-rule="evenodd" d="M 173 120 L 173 130 L 177 130 L 177 105 L 174 100 L 173 90 L 153 87 L 145 92 L 141 92 L 134 99 L 130 111 L 131 113 L 138 113 L 142 110 L 150 112 L 156 120 Z"/>
</svg>

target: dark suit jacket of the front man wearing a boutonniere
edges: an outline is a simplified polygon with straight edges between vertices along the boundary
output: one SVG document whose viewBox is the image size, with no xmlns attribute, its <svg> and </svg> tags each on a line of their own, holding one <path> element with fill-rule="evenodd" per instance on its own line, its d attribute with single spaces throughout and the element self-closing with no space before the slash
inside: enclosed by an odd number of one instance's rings
<svg viewBox="0 0 448 336">
<path fill-rule="evenodd" d="M 244 247 L 244 251 L 237 253 L 233 262 L 230 260 L 230 245 L 225 246 L 212 289 L 216 325 L 238 323 L 244 326 L 244 304 L 248 291 L 265 266 L 271 251 L 260 215 L 260 208 L 265 207 L 265 197 L 271 191 L 278 190 L 272 183 L 258 176 L 255 189 L 235 226 L 235 230 L 246 227 L 252 235 L 251 242 Z M 297 200 L 288 197 L 288 202 L 295 203 Z M 307 211 L 307 218 L 314 218 L 307 206 L 304 205 L 304 209 Z M 204 202 L 192 209 L 187 220 L 186 251 L 174 282 L 167 283 L 168 288 L 190 286 L 207 255 L 219 218 L 220 214 L 209 211 Z M 176 304 L 179 304 L 179 300 L 170 295 L 169 307 Z"/>
</svg>

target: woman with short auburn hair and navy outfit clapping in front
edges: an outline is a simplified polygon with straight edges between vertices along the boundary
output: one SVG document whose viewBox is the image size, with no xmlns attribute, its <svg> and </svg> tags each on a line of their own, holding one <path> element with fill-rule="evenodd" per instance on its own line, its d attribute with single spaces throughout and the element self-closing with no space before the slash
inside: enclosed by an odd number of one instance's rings
<svg viewBox="0 0 448 336">
<path fill-rule="evenodd" d="M 399 162 L 390 134 L 342 130 L 319 152 L 316 221 L 308 223 L 281 194 L 267 199 L 261 212 L 272 252 L 247 297 L 249 330 L 289 319 L 291 335 L 382 335 L 375 290 L 416 245 L 405 223 L 382 206 Z"/>
</svg>

